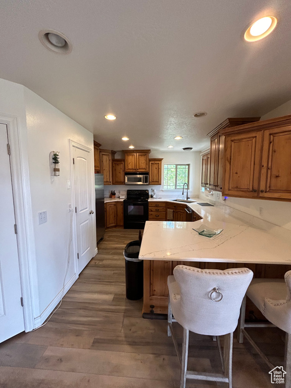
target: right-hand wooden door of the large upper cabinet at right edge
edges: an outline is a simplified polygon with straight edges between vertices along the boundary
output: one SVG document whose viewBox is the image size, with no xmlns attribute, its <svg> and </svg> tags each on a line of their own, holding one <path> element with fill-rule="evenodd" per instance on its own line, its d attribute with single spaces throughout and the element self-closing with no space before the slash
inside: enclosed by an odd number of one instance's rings
<svg viewBox="0 0 291 388">
<path fill-rule="evenodd" d="M 263 135 L 260 197 L 291 199 L 291 127 Z"/>
</svg>

